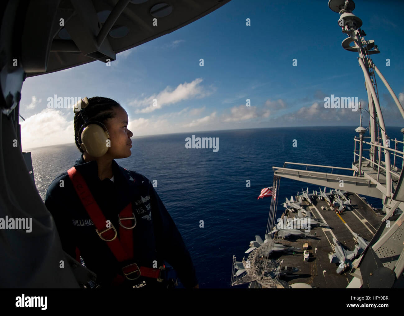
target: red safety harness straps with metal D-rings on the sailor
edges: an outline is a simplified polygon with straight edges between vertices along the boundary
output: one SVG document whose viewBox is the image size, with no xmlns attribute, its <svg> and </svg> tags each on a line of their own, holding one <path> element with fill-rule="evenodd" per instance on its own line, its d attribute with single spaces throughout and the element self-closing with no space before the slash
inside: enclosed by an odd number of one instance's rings
<svg viewBox="0 0 404 316">
<path fill-rule="evenodd" d="M 88 213 L 88 216 L 90 216 L 91 220 L 93 220 L 96 227 L 95 231 L 97 232 L 98 236 L 100 236 L 100 238 L 107 243 L 109 249 L 111 249 L 112 253 L 119 262 L 128 260 L 134 261 L 133 228 L 136 226 L 136 218 L 135 214 L 132 212 L 132 203 L 130 202 L 128 205 L 126 205 L 126 207 L 122 209 L 118 215 L 118 222 L 120 225 L 120 238 L 118 239 L 118 234 L 114 225 L 110 221 L 107 222 L 107 219 L 95 201 L 90 189 L 86 184 L 86 181 L 80 172 L 78 172 L 75 167 L 72 167 L 67 170 L 67 174 L 69 175 L 69 178 L 72 181 L 78 197 Z M 118 274 L 114 278 L 112 284 L 119 285 L 124 282 L 125 278 L 128 280 L 136 280 L 141 275 L 146 276 L 147 278 L 156 278 L 157 281 L 162 282 L 162 270 L 165 270 L 164 266 L 157 269 L 144 266 L 139 267 L 136 263 L 129 264 L 122 268 L 123 276 Z"/>
</svg>

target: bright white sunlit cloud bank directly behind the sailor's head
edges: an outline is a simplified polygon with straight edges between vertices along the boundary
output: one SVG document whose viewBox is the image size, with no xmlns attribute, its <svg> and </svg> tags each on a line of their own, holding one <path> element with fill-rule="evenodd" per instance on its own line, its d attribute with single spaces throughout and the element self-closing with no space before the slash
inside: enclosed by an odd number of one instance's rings
<svg viewBox="0 0 404 316">
<path fill-rule="evenodd" d="M 44 109 L 21 122 L 23 148 L 74 143 L 73 120 L 62 111 Z"/>
</svg>

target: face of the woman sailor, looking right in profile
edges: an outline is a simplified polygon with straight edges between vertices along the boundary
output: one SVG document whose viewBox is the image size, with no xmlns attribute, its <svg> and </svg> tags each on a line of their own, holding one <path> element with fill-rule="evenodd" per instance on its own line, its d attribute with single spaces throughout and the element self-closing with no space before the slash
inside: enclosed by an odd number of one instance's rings
<svg viewBox="0 0 404 316">
<path fill-rule="evenodd" d="M 109 139 L 111 140 L 111 147 L 108 149 L 107 154 L 116 158 L 126 158 L 132 155 L 130 148 L 132 148 L 132 141 L 130 137 L 133 133 L 128 130 L 128 114 L 122 107 L 114 108 L 115 117 L 108 119 L 107 129 Z"/>
</svg>

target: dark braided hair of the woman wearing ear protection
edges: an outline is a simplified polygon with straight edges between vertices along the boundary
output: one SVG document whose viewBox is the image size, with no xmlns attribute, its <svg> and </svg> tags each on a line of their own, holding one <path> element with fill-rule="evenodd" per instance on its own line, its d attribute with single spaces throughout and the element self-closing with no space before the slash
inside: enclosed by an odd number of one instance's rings
<svg viewBox="0 0 404 316">
<path fill-rule="evenodd" d="M 105 125 L 107 119 L 115 117 L 114 107 L 120 107 L 120 104 L 112 99 L 104 98 L 102 96 L 94 96 L 88 99 L 88 105 L 84 109 L 88 121 L 98 121 Z M 80 114 L 80 111 L 74 114 L 74 140 L 76 146 L 81 153 L 84 153 L 78 141 L 78 132 L 84 124 L 84 120 Z"/>
</svg>

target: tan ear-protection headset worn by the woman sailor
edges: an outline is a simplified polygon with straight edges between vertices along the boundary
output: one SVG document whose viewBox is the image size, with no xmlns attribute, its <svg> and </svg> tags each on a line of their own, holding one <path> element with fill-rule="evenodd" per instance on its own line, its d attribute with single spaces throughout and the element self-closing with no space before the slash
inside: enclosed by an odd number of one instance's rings
<svg viewBox="0 0 404 316">
<path fill-rule="evenodd" d="M 73 107 L 76 113 L 80 109 L 80 115 L 84 124 L 77 133 L 77 139 L 83 151 L 86 151 L 93 157 L 101 157 L 107 153 L 107 139 L 109 133 L 104 124 L 98 121 L 88 121 L 85 107 L 88 105 L 88 98 L 80 99 Z"/>
</svg>

